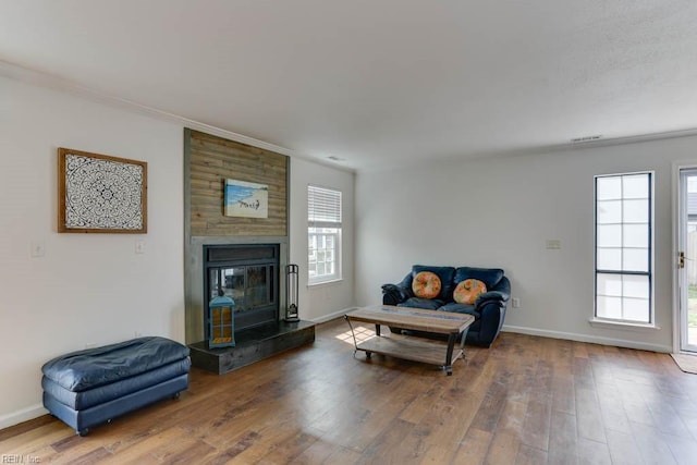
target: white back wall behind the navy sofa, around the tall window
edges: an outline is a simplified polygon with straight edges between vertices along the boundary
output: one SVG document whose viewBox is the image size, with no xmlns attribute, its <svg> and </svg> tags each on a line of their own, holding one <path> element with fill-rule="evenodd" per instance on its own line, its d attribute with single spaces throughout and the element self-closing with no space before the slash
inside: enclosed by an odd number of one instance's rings
<svg viewBox="0 0 697 465">
<path fill-rule="evenodd" d="M 413 264 L 503 268 L 522 308 L 511 331 L 659 351 L 672 348 L 672 161 L 697 158 L 697 137 L 536 156 L 439 162 L 356 176 L 356 299 Z M 656 171 L 659 331 L 589 325 L 594 305 L 594 175 Z M 559 250 L 546 240 L 560 240 Z"/>
</svg>

